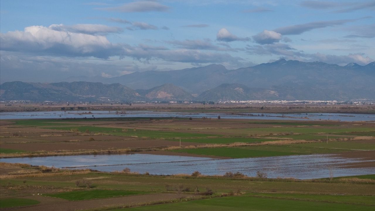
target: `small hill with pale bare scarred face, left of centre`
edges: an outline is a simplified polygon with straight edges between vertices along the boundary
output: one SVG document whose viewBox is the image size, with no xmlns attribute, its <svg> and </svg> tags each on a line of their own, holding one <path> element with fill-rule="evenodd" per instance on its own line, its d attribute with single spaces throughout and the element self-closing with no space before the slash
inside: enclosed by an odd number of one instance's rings
<svg viewBox="0 0 375 211">
<path fill-rule="evenodd" d="M 192 100 L 194 97 L 185 90 L 173 84 L 163 84 L 161 86 L 153 87 L 151 89 L 137 89 L 140 95 L 156 101 L 171 101 L 171 100 Z"/>
</svg>

